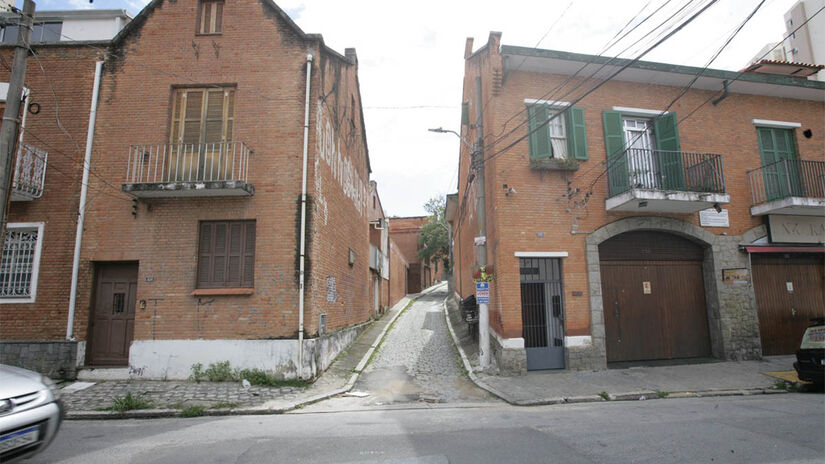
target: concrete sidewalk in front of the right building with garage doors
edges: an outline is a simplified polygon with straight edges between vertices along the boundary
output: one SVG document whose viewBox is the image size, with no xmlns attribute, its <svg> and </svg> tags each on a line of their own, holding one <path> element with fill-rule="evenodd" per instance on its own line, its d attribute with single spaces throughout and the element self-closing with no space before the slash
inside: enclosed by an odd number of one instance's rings
<svg viewBox="0 0 825 464">
<path fill-rule="evenodd" d="M 600 371 L 533 371 L 524 376 L 489 375 L 478 367 L 478 345 L 451 298 L 444 304 L 453 340 L 470 378 L 481 388 L 519 406 L 609 400 L 780 393 L 778 379 L 764 372 L 793 369 L 793 356 L 761 361 L 705 362 Z"/>
</svg>

